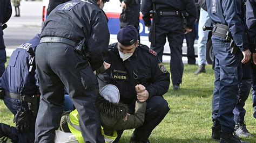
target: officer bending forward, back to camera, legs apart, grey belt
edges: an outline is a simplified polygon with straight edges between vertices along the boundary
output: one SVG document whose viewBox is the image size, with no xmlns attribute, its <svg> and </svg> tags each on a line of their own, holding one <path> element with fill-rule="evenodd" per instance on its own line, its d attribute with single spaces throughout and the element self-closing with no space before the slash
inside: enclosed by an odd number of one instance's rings
<svg viewBox="0 0 256 143">
<path fill-rule="evenodd" d="M 35 142 L 53 142 L 63 112 L 64 86 L 79 112 L 85 142 L 104 142 L 95 108 L 93 71 L 103 64 L 109 44 L 105 0 L 58 5 L 46 19 L 36 51 L 41 100 Z"/>
</svg>

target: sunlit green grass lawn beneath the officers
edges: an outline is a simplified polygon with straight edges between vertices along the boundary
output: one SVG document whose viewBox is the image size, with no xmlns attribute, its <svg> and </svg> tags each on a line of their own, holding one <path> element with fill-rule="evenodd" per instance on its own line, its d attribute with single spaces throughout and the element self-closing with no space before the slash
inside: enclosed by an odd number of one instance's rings
<svg viewBox="0 0 256 143">
<path fill-rule="evenodd" d="M 165 64 L 170 69 L 169 64 Z M 211 65 L 206 66 L 206 74 L 194 75 L 198 66 L 184 65 L 183 83 L 179 91 L 169 92 L 164 97 L 170 105 L 170 111 L 164 120 L 153 130 L 151 142 L 217 142 L 211 139 L 211 111 L 214 72 Z M 246 101 L 246 125 L 255 137 L 244 140 L 256 142 L 254 128 L 252 96 Z M 0 122 L 11 124 L 13 115 L 0 101 Z M 120 142 L 129 142 L 133 130 L 124 132 Z"/>
</svg>

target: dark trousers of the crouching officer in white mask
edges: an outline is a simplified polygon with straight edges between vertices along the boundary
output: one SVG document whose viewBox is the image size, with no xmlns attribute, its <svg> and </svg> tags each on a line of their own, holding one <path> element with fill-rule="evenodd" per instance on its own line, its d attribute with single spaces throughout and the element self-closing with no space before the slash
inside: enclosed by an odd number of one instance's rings
<svg viewBox="0 0 256 143">
<path fill-rule="evenodd" d="M 134 112 L 135 101 L 133 104 L 129 104 L 129 110 L 131 113 Z M 136 137 L 142 142 L 146 142 L 150 137 L 153 129 L 161 123 L 166 114 L 169 112 L 170 108 L 167 101 L 163 96 L 153 96 L 147 101 L 145 120 L 142 126 L 136 128 L 133 132 Z M 117 131 L 118 137 L 114 142 L 118 142 L 123 131 Z"/>
</svg>

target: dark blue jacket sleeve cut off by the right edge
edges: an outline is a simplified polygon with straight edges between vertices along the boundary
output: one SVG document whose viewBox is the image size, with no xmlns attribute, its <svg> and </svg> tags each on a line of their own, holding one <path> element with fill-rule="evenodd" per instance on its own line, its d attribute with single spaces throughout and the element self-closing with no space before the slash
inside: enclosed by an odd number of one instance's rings
<svg viewBox="0 0 256 143">
<path fill-rule="evenodd" d="M 246 25 L 250 48 L 256 53 L 256 0 L 247 0 L 246 2 Z"/>
</svg>

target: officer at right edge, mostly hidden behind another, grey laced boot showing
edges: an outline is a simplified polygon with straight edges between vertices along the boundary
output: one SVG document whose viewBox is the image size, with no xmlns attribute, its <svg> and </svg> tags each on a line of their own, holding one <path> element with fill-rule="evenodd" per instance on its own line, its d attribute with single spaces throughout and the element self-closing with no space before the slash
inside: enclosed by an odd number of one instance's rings
<svg viewBox="0 0 256 143">
<path fill-rule="evenodd" d="M 249 41 L 249 47 L 250 51 L 253 52 L 253 56 L 256 57 L 256 54 L 254 54 L 255 51 L 255 33 L 256 33 L 256 2 L 255 1 L 247 1 L 246 2 L 246 16 L 244 19 L 244 22 L 246 21 L 246 30 L 247 30 L 247 36 Z M 256 41 L 256 40 L 255 40 Z M 239 99 L 238 104 L 235 106 L 234 109 L 234 121 L 235 121 L 235 134 L 239 137 L 251 137 L 252 134 L 247 130 L 245 125 L 245 113 L 246 110 L 244 109 L 245 101 L 248 98 L 248 95 L 250 94 L 251 90 L 251 84 L 252 84 L 252 95 L 253 99 L 255 97 L 255 76 L 256 73 L 254 70 L 254 75 L 252 72 L 252 67 L 255 69 L 255 65 L 252 65 L 251 62 L 247 62 L 245 64 L 242 64 L 242 81 L 239 84 Z M 253 77 L 253 78 L 252 78 Z M 254 79 L 254 82 L 252 82 Z M 254 103 L 256 104 L 256 102 Z M 254 106 L 254 105 L 253 105 Z M 255 116 L 256 117 L 256 116 Z"/>
</svg>

